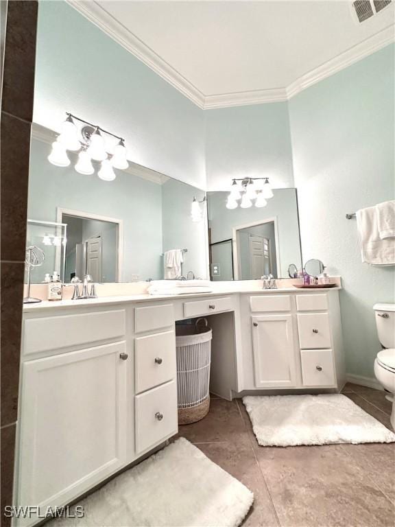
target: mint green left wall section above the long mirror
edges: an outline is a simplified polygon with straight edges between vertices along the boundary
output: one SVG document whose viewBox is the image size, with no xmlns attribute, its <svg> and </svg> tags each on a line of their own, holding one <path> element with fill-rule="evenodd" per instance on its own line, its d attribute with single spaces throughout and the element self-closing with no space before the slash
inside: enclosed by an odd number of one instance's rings
<svg viewBox="0 0 395 527">
<path fill-rule="evenodd" d="M 40 1 L 34 122 L 69 111 L 126 139 L 134 163 L 205 187 L 204 113 L 64 1 Z"/>
</svg>

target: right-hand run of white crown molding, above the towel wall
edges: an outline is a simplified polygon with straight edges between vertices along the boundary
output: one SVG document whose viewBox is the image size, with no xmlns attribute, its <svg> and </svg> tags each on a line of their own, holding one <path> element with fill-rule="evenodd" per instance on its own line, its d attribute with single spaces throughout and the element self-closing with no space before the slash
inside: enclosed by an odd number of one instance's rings
<svg viewBox="0 0 395 527">
<path fill-rule="evenodd" d="M 287 98 L 291 99 L 291 97 L 309 88 L 309 86 L 313 86 L 313 84 L 320 82 L 320 80 L 331 77 L 334 73 L 355 64 L 355 62 L 372 55 L 375 51 L 379 51 L 379 49 L 393 42 L 395 42 L 394 24 L 385 27 L 381 32 L 366 38 L 363 42 L 337 55 L 337 57 L 328 60 L 328 62 L 324 62 L 324 64 L 309 71 L 306 75 L 302 75 L 302 77 L 287 86 Z"/>
</svg>

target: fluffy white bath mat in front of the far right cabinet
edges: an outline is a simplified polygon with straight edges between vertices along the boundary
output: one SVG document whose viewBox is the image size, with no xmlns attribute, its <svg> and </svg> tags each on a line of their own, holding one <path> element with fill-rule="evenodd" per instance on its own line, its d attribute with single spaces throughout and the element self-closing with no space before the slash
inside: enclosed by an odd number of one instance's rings
<svg viewBox="0 0 395 527">
<path fill-rule="evenodd" d="M 345 395 L 248 396 L 243 403 L 263 447 L 395 441 L 393 432 Z"/>
</svg>

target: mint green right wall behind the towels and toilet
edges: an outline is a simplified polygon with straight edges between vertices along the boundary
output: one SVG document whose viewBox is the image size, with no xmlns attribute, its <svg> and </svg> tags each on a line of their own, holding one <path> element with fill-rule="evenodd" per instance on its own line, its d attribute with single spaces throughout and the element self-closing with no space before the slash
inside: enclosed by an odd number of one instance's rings
<svg viewBox="0 0 395 527">
<path fill-rule="evenodd" d="M 304 260 L 343 277 L 347 371 L 374 378 L 376 302 L 394 302 L 394 268 L 362 264 L 346 213 L 394 199 L 394 45 L 289 102 Z"/>
</svg>

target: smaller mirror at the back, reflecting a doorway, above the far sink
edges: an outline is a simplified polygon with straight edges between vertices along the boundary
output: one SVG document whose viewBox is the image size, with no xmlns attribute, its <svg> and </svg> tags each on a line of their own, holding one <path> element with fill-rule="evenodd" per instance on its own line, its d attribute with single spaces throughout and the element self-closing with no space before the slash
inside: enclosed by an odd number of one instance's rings
<svg viewBox="0 0 395 527">
<path fill-rule="evenodd" d="M 291 262 L 301 268 L 296 189 L 274 189 L 262 208 L 228 209 L 228 194 L 207 193 L 211 279 L 288 278 Z"/>
</svg>

